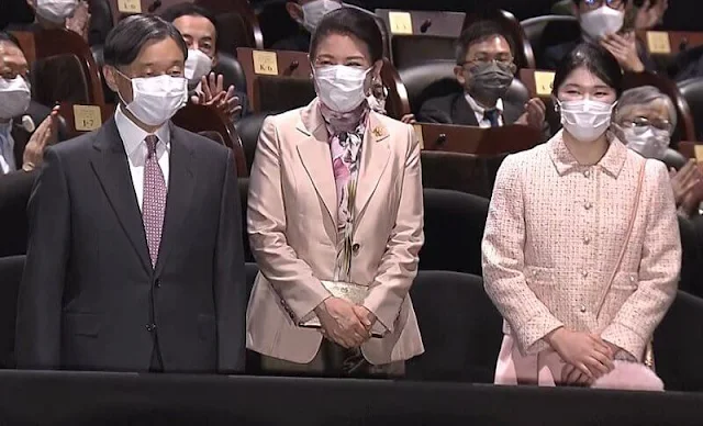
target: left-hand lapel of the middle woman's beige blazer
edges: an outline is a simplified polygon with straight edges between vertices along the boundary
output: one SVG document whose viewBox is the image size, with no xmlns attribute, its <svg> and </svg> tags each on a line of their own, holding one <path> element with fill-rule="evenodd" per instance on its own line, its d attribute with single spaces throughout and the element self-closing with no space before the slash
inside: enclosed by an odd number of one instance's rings
<svg viewBox="0 0 703 426">
<path fill-rule="evenodd" d="M 297 128 L 302 136 L 298 143 L 300 160 L 315 187 L 317 197 L 327 209 L 330 218 L 336 222 L 337 190 L 332 170 L 332 153 L 327 141 L 327 130 L 316 101 L 302 110 L 301 121 Z"/>
</svg>

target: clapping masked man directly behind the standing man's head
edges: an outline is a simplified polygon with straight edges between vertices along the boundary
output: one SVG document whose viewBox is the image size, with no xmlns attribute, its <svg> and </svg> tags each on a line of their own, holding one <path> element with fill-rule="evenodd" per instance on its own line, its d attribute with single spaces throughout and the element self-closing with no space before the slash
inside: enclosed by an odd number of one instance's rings
<svg viewBox="0 0 703 426">
<path fill-rule="evenodd" d="M 217 23 L 207 9 L 179 3 L 166 9 L 161 18 L 180 31 L 188 45 L 183 76 L 188 79 L 190 101 L 213 105 L 236 122 L 248 114 L 246 93 L 234 86 L 225 90 L 224 76 L 217 72 Z"/>
</svg>

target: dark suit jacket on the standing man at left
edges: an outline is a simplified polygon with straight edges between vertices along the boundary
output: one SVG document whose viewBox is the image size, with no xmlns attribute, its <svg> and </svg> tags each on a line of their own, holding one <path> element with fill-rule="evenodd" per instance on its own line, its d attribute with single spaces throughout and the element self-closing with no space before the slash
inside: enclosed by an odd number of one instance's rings
<svg viewBox="0 0 703 426">
<path fill-rule="evenodd" d="M 30 199 L 24 369 L 243 371 L 246 284 L 232 153 L 171 125 L 155 268 L 114 120 L 52 146 Z"/>
</svg>

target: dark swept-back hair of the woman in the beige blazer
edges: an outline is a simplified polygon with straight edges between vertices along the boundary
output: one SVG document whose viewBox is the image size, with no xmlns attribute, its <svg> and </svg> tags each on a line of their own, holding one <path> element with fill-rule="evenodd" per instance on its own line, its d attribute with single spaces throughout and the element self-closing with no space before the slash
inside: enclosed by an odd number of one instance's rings
<svg viewBox="0 0 703 426">
<path fill-rule="evenodd" d="M 383 36 L 371 14 L 355 8 L 341 8 L 325 14 L 310 40 L 310 57 L 317 54 L 322 40 L 331 34 L 352 35 L 366 44 L 376 63 L 383 58 Z"/>
</svg>

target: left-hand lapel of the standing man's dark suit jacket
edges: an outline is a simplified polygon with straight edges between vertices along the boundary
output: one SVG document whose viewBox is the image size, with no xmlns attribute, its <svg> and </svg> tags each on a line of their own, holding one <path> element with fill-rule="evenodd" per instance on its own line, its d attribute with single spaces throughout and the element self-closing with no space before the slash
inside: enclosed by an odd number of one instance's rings
<svg viewBox="0 0 703 426">
<path fill-rule="evenodd" d="M 108 195 L 122 228 L 136 250 L 142 265 L 150 272 L 152 260 L 146 246 L 142 212 L 136 201 L 130 165 L 114 119 L 98 132 L 93 143 L 91 166 Z"/>
</svg>

